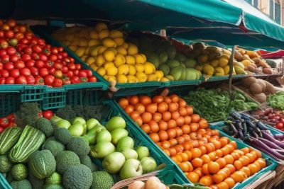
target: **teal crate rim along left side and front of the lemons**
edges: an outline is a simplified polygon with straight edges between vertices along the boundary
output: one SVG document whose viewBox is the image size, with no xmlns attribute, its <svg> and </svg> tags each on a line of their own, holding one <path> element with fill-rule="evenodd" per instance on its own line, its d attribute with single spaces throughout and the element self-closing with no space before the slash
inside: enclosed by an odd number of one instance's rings
<svg viewBox="0 0 284 189">
<path fill-rule="evenodd" d="M 90 69 L 85 62 L 80 59 L 77 55 L 75 55 L 74 52 L 72 52 L 68 47 L 65 45 L 62 45 L 60 42 L 57 40 L 54 40 L 51 38 L 50 33 L 52 33 L 55 28 L 48 27 L 46 25 L 36 25 L 32 27 L 32 30 L 34 33 L 40 35 L 41 38 L 44 38 L 48 42 L 50 42 L 51 45 L 55 46 L 62 46 L 64 47 L 64 50 L 70 55 L 70 57 L 73 57 L 76 62 L 80 62 L 82 64 L 82 67 L 85 69 Z M 97 74 L 96 71 L 92 70 L 92 73 L 94 76 L 97 77 L 99 81 L 104 83 L 106 87 L 109 87 L 110 84 L 107 80 L 105 80 L 102 76 Z M 169 82 L 159 82 L 159 81 L 147 81 L 147 82 L 139 82 L 135 84 L 116 84 L 115 87 L 118 89 L 124 89 L 124 90 L 118 90 L 114 94 L 115 96 L 126 96 L 126 95 L 131 95 L 131 94 L 137 94 L 137 93 L 146 93 L 146 92 L 152 92 L 155 91 L 157 88 L 165 87 L 168 86 L 170 83 Z"/>
</svg>

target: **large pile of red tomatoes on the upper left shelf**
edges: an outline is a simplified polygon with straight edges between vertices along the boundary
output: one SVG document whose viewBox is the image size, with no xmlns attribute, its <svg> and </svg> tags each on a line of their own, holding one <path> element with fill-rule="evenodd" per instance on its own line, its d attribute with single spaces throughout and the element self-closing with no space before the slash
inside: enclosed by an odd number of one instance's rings
<svg viewBox="0 0 284 189">
<path fill-rule="evenodd" d="M 0 20 L 0 84 L 64 84 L 96 82 L 92 71 L 35 36 L 26 25 Z"/>
</svg>

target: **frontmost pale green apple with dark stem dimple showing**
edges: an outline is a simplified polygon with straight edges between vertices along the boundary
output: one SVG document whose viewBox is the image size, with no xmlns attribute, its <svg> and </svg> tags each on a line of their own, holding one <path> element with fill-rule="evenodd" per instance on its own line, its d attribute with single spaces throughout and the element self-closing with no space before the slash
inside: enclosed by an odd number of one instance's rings
<svg viewBox="0 0 284 189">
<path fill-rule="evenodd" d="M 119 171 L 121 180 L 141 176 L 143 169 L 140 161 L 137 159 L 127 159 Z"/>
</svg>

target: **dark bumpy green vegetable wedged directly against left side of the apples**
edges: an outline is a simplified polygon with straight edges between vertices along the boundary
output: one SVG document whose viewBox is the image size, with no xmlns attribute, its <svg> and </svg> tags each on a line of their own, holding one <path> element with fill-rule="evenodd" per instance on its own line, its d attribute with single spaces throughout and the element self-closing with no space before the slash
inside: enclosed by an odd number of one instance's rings
<svg viewBox="0 0 284 189">
<path fill-rule="evenodd" d="M 87 155 L 90 151 L 89 143 L 83 137 L 72 137 L 70 142 L 67 144 L 67 149 L 74 151 L 78 156 Z"/>
</svg>

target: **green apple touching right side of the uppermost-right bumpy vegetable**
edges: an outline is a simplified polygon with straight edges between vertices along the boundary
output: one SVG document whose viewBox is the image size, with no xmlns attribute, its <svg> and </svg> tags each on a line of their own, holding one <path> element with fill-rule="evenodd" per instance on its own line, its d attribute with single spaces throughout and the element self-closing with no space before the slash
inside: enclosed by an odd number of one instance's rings
<svg viewBox="0 0 284 189">
<path fill-rule="evenodd" d="M 92 145 L 90 154 L 94 158 L 104 158 L 115 151 L 114 144 L 111 142 L 99 142 L 96 145 Z"/>
</svg>

